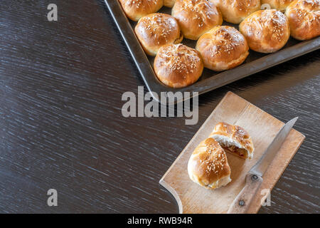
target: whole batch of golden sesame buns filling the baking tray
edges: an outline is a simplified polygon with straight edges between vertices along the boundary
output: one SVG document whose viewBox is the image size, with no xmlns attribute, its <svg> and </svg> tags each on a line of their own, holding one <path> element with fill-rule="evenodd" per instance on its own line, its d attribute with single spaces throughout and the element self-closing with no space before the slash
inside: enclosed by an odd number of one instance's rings
<svg viewBox="0 0 320 228">
<path fill-rule="evenodd" d="M 273 53 L 290 35 L 302 41 L 320 35 L 320 0 L 118 1 L 137 21 L 134 32 L 146 54 L 156 56 L 156 77 L 173 88 L 195 83 L 204 67 L 225 71 L 239 66 L 249 49 Z M 156 13 L 162 6 L 172 8 L 171 15 Z M 223 20 L 239 24 L 239 30 L 222 26 Z M 196 40 L 196 48 L 179 44 L 183 38 Z"/>
</svg>

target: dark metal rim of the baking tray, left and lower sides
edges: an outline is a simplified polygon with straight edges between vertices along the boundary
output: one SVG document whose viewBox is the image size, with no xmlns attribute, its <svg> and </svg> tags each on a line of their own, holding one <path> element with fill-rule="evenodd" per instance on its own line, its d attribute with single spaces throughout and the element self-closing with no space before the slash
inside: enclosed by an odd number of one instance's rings
<svg viewBox="0 0 320 228">
<path fill-rule="evenodd" d="M 185 88 L 171 88 L 169 86 L 165 86 L 163 83 L 159 81 L 154 73 L 154 69 L 152 68 L 146 53 L 144 52 L 137 36 L 134 33 L 134 30 L 129 22 L 129 19 L 124 14 L 122 6 L 120 6 L 119 1 L 105 0 L 105 4 L 107 5 L 108 10 L 116 24 L 119 33 L 124 39 L 124 43 L 131 54 L 134 63 L 136 64 L 140 75 L 144 81 L 146 88 L 151 93 L 151 96 L 154 100 L 161 103 L 161 100 L 154 96 L 156 94 L 160 95 L 161 92 L 167 93 L 166 100 L 169 102 L 166 104 L 170 105 L 170 98 L 174 98 L 174 93 L 176 92 L 189 92 L 190 97 L 182 98 L 182 99 L 174 99 L 174 104 L 183 102 L 184 100 L 188 100 L 191 98 L 195 98 L 197 95 L 201 95 L 203 93 L 207 93 L 211 90 L 215 90 L 216 88 L 220 88 L 229 83 L 233 83 L 234 81 L 238 81 L 242 78 L 250 76 L 254 73 L 263 71 L 267 68 L 271 68 L 272 66 L 276 66 L 280 63 L 284 63 L 293 58 L 297 58 L 311 51 L 316 51 L 320 48 L 320 36 L 313 38 L 308 41 L 301 41 L 294 46 L 290 46 L 284 49 L 281 49 L 275 53 L 267 54 L 266 56 L 262 56 L 261 58 L 257 58 L 250 63 L 243 63 L 240 66 L 230 69 L 228 71 L 222 71 L 220 73 L 211 76 L 210 78 L 206 78 L 202 81 L 197 81 L 193 83 L 191 86 L 187 86 Z M 249 70 L 249 71 L 248 71 Z M 172 92 L 172 93 L 168 93 Z M 193 94 L 193 92 L 198 92 L 198 94 Z"/>
</svg>

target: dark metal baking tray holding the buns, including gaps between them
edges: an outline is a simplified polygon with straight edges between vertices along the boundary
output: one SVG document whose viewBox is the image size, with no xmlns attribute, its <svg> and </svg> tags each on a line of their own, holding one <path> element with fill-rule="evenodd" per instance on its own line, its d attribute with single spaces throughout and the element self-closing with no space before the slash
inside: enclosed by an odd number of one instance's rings
<svg viewBox="0 0 320 228">
<path fill-rule="evenodd" d="M 124 14 L 124 11 L 119 4 L 119 1 L 105 0 L 105 4 L 107 4 L 107 8 L 114 19 L 115 24 L 117 24 L 122 38 L 127 44 L 129 52 L 134 59 L 134 63 L 136 63 L 144 83 L 146 84 L 146 88 L 148 88 L 150 92 L 155 92 L 157 95 L 159 95 L 159 97 L 161 92 L 173 92 L 167 93 L 167 97 L 170 98 L 172 96 L 171 99 L 173 99 L 174 93 L 180 91 L 182 93 L 190 92 L 190 98 L 192 98 L 192 92 L 198 92 L 199 95 L 206 93 L 210 90 L 225 86 L 228 83 L 232 83 L 241 78 L 250 76 L 253 73 L 263 71 L 266 68 L 289 61 L 292 58 L 315 51 L 320 47 L 320 37 L 311 39 L 309 41 L 297 41 L 296 39 L 290 37 L 287 44 L 280 51 L 264 54 L 250 50 L 249 56 L 247 56 L 245 62 L 236 68 L 222 72 L 215 72 L 204 68 L 202 76 L 193 85 L 185 88 L 171 88 L 169 86 L 165 86 L 158 80 L 158 78 L 156 78 L 153 69 L 154 57 L 146 56 L 146 53 L 144 53 L 144 50 L 134 33 L 134 26 L 137 24 L 137 22 L 127 19 L 127 16 Z M 171 9 L 162 7 L 159 12 L 171 14 Z M 238 29 L 238 24 L 230 24 L 224 21 L 223 25 L 234 26 Z M 192 48 L 196 46 L 196 41 L 191 41 L 186 38 L 183 38 L 182 43 Z M 156 97 L 154 97 L 154 99 L 159 101 Z M 179 103 L 183 101 L 183 99 L 184 98 L 174 98 L 174 103 Z"/>
</svg>

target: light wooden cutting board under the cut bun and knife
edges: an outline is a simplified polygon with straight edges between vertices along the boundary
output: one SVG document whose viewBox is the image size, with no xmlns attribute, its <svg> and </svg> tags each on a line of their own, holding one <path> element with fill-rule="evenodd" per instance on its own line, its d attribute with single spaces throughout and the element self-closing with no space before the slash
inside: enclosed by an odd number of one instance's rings
<svg viewBox="0 0 320 228">
<path fill-rule="evenodd" d="M 254 157 L 252 160 L 243 160 L 227 153 L 232 182 L 217 190 L 207 190 L 192 182 L 188 177 L 188 160 L 198 144 L 208 138 L 214 126 L 222 121 L 240 125 L 247 130 L 255 145 Z M 262 156 L 282 125 L 284 123 L 277 118 L 265 113 L 238 95 L 228 92 L 161 178 L 160 184 L 174 195 L 180 213 L 225 213 L 233 199 L 245 186 L 245 175 Z M 258 212 L 267 197 L 266 192 L 271 192 L 304 138 L 304 135 L 297 130 L 290 131 L 267 172 L 263 175 L 262 185 L 250 204 L 249 213 Z"/>
</svg>

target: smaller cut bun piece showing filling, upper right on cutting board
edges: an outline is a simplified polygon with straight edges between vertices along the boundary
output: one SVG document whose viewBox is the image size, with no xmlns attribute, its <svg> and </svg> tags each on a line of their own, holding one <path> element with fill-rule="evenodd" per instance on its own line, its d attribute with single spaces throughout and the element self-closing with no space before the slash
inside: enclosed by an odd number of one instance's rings
<svg viewBox="0 0 320 228">
<path fill-rule="evenodd" d="M 219 142 L 226 152 L 244 159 L 253 157 L 253 142 L 245 129 L 228 123 L 218 123 L 209 136 Z"/>
</svg>

